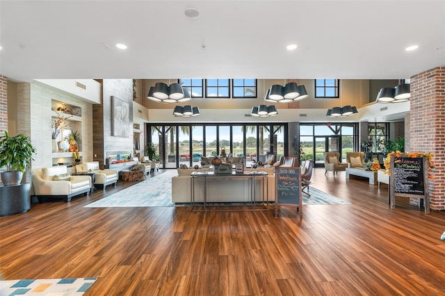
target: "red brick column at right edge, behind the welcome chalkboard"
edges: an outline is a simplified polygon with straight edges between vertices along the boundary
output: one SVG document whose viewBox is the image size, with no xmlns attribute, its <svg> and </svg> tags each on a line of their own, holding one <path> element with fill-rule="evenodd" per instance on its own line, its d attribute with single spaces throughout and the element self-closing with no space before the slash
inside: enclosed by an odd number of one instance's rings
<svg viewBox="0 0 445 296">
<path fill-rule="evenodd" d="M 429 181 L 433 210 L 445 209 L 445 67 L 411 77 L 410 152 L 434 154 L 436 169 Z"/>
</svg>

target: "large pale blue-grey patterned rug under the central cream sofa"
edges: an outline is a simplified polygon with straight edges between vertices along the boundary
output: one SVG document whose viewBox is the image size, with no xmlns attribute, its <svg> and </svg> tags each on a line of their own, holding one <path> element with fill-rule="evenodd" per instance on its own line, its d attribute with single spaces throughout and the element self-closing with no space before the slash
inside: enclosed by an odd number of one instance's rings
<svg viewBox="0 0 445 296">
<path fill-rule="evenodd" d="M 172 203 L 172 177 L 177 176 L 177 170 L 167 170 L 145 181 L 108 195 L 103 199 L 84 206 L 84 208 L 126 208 L 145 206 L 175 206 Z M 310 197 L 302 193 L 303 204 L 349 204 L 349 202 L 329 195 L 326 192 L 311 187 Z M 184 206 L 184 204 L 181 204 Z"/>
</svg>

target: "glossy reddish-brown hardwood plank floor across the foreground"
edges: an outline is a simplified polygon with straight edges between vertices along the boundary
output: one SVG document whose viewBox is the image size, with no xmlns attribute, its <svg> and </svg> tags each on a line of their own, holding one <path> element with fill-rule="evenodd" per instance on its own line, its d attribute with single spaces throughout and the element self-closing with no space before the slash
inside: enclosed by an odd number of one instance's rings
<svg viewBox="0 0 445 296">
<path fill-rule="evenodd" d="M 131 183 L 0 217 L 3 279 L 98 277 L 85 295 L 445 295 L 445 213 L 314 169 L 350 204 L 267 212 L 83 208 Z"/>
</svg>

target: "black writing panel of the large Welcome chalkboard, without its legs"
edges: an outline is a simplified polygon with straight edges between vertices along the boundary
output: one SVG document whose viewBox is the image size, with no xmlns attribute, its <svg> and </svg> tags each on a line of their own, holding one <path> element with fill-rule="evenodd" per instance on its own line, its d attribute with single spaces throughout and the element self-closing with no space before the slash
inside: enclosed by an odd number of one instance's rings
<svg viewBox="0 0 445 296">
<path fill-rule="evenodd" d="M 394 157 L 394 192 L 425 195 L 423 158 Z"/>
</svg>

